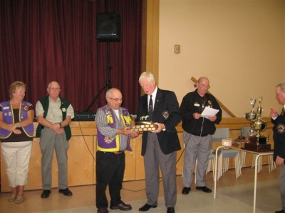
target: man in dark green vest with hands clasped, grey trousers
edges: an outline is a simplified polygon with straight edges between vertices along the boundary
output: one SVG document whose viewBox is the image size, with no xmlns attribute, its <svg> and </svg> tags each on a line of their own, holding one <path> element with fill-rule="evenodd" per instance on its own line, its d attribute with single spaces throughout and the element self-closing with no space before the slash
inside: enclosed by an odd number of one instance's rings
<svg viewBox="0 0 285 213">
<path fill-rule="evenodd" d="M 71 196 L 67 183 L 67 151 L 71 138 L 71 119 L 74 117 L 73 107 L 67 99 L 59 97 L 61 87 L 58 82 L 48 84 L 48 96 L 36 103 L 38 128 L 36 136 L 40 137 L 41 147 L 41 177 L 43 192 L 41 198 L 51 194 L 51 165 L 53 150 L 56 150 L 58 160 L 58 192 Z"/>
</svg>

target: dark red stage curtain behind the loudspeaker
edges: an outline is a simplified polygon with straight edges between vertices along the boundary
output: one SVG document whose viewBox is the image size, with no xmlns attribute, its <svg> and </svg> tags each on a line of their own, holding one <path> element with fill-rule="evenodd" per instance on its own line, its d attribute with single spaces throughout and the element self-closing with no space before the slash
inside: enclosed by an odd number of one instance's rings
<svg viewBox="0 0 285 213">
<path fill-rule="evenodd" d="M 96 13 L 118 12 L 121 40 L 96 40 Z M 107 74 L 123 93 L 123 107 L 135 114 L 140 96 L 142 0 L 0 0 L 0 102 L 9 85 L 26 83 L 34 106 L 48 83 L 61 84 L 61 97 L 75 111 L 105 105 Z M 108 72 L 110 70 L 110 72 Z M 103 92 L 95 101 L 100 89 Z M 95 102 L 94 102 L 95 101 Z M 90 104 L 94 102 L 92 106 Z"/>
</svg>

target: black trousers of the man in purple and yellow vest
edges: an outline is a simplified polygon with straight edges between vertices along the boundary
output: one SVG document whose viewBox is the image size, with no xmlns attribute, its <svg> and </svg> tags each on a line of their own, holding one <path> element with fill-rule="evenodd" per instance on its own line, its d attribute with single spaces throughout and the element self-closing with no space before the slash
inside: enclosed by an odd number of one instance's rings
<svg viewBox="0 0 285 213">
<path fill-rule="evenodd" d="M 97 151 L 96 155 L 96 207 L 108 208 L 106 188 L 109 185 L 110 206 L 116 206 L 120 200 L 120 190 L 125 171 L 125 153 Z"/>
</svg>

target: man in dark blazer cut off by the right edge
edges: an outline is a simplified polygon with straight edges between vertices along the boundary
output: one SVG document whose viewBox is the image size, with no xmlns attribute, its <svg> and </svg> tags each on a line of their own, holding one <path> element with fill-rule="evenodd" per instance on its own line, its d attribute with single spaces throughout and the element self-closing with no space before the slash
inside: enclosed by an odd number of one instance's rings
<svg viewBox="0 0 285 213">
<path fill-rule="evenodd" d="M 276 165 L 280 166 L 279 175 L 279 188 L 281 195 L 282 210 L 276 211 L 275 213 L 285 212 L 285 83 L 278 84 L 276 86 L 276 99 L 279 104 L 283 105 L 280 114 L 275 109 L 270 110 L 271 122 L 274 124 L 273 127 L 273 139 L 274 139 L 274 161 Z"/>
</svg>

